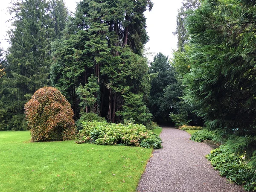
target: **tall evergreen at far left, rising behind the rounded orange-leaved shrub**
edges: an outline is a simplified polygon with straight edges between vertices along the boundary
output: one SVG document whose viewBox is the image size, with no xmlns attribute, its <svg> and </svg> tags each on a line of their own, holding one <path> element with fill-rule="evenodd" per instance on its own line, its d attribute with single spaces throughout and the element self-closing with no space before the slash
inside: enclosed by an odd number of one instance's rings
<svg viewBox="0 0 256 192">
<path fill-rule="evenodd" d="M 54 5 L 63 9 L 53 12 Z M 0 112 L 0 122 L 1 129 L 22 130 L 26 129 L 24 104 L 36 90 L 49 85 L 50 43 L 60 35 L 64 23 L 59 15 L 66 16 L 67 10 L 63 1 L 22 0 L 13 3 L 10 13 L 14 19 L 1 89 L 4 112 Z"/>
</svg>

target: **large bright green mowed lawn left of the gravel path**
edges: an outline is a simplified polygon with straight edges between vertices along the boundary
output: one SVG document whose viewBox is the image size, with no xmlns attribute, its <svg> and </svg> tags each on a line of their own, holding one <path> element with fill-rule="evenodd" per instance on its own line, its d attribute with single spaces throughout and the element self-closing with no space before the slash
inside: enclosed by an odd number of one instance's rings
<svg viewBox="0 0 256 192">
<path fill-rule="evenodd" d="M 152 149 L 30 143 L 29 131 L 0 132 L 0 192 L 135 192 Z"/>
</svg>

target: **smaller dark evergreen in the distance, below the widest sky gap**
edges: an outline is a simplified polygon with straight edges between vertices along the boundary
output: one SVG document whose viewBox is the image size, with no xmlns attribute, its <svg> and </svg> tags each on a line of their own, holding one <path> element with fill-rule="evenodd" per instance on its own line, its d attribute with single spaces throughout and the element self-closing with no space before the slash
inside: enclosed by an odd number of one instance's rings
<svg viewBox="0 0 256 192">
<path fill-rule="evenodd" d="M 150 65 L 149 73 L 157 73 L 157 77 L 151 81 L 148 106 L 155 120 L 168 121 L 170 111 L 175 111 L 175 102 L 181 96 L 175 79 L 175 71 L 170 65 L 168 57 L 162 53 L 154 56 Z M 173 89 L 173 87 L 176 88 Z"/>
</svg>

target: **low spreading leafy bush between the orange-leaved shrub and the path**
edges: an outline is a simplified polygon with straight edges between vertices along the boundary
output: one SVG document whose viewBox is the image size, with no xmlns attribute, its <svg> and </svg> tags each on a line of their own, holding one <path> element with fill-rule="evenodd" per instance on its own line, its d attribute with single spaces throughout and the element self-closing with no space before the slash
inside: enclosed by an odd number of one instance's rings
<svg viewBox="0 0 256 192">
<path fill-rule="evenodd" d="M 95 143 L 97 145 L 128 145 L 162 148 L 161 139 L 144 125 L 128 125 L 108 122 L 83 122 L 76 143 Z"/>
</svg>

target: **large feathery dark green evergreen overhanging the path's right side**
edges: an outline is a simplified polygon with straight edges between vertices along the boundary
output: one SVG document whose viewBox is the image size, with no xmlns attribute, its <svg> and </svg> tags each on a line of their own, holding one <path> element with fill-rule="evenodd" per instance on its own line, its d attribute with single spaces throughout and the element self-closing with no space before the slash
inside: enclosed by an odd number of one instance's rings
<svg viewBox="0 0 256 192">
<path fill-rule="evenodd" d="M 205 0 L 188 18 L 191 73 L 186 100 L 256 167 L 256 2 Z"/>
</svg>

